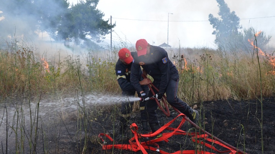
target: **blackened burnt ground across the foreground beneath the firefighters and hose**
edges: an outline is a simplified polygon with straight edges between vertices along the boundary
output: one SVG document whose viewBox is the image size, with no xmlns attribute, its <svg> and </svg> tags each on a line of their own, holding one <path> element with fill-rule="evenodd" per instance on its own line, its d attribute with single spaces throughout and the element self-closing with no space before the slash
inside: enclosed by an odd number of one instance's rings
<svg viewBox="0 0 275 154">
<path fill-rule="evenodd" d="M 198 105 L 200 116 L 202 117 L 202 125 L 205 131 L 211 133 L 222 141 L 236 147 L 246 153 L 262 153 L 261 140 L 261 103 L 259 100 L 250 101 L 205 101 Z M 265 154 L 275 153 L 275 98 L 263 99 L 263 150 Z M 161 126 L 174 119 L 178 113 L 170 109 L 171 116 L 166 117 L 161 110 L 157 110 L 158 118 Z M 88 141 L 86 153 L 141 153 L 129 150 L 110 149 L 102 150 L 102 142 L 97 140 L 99 133 L 108 133 L 111 137 L 116 138 L 118 132 L 119 120 L 119 106 L 104 105 L 92 107 L 89 112 L 88 133 L 90 140 Z M 79 123 L 75 112 L 69 113 L 65 120 L 51 120 L 51 122 L 44 122 L 43 132 L 47 136 L 42 138 L 44 141 L 38 143 L 37 153 L 81 153 L 83 150 L 84 137 L 80 139 L 81 134 L 84 136 L 84 130 L 79 129 Z M 182 118 L 171 125 L 176 128 Z M 136 123 L 141 128 L 139 120 L 139 112 L 135 111 L 132 114 L 131 121 Z M 188 131 L 191 125 L 185 121 L 181 130 Z M 243 132 L 244 130 L 244 132 Z M 133 134 L 128 129 L 127 135 L 132 137 Z M 39 134 L 42 137 L 41 133 Z M 112 144 L 106 139 L 107 144 Z M 1 141 L 2 142 L 2 141 Z M 127 144 L 126 138 L 123 143 Z M 2 142 L 2 146 L 5 145 Z M 12 144 L 9 142 L 9 147 Z M 215 146 L 218 150 L 226 150 L 221 146 Z M 245 149 L 244 149 L 245 147 Z M 210 152 L 210 148 L 202 147 L 204 151 Z M 1 151 L 4 148 L 1 149 Z M 173 153 L 179 150 L 194 150 L 194 142 L 191 141 L 190 136 L 174 135 L 169 138 L 169 142 L 160 147 L 167 153 Z M 10 148 L 10 152 L 12 152 Z M 27 152 L 27 150 L 26 150 Z M 158 153 L 147 150 L 148 153 Z M 218 153 L 212 151 L 213 153 Z M 4 149 L 5 153 L 5 149 Z M 29 153 L 29 152 L 27 152 Z M 227 152 L 229 153 L 229 152 Z"/>
</svg>

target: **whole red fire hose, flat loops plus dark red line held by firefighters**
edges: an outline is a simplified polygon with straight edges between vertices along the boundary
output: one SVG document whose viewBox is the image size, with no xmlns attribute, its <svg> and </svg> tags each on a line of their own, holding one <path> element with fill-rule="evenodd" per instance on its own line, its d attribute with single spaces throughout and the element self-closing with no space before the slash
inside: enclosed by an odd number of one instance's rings
<svg viewBox="0 0 275 154">
<path fill-rule="evenodd" d="M 144 74 L 142 74 L 142 77 L 147 78 Z M 149 86 L 149 89 L 151 90 L 153 95 L 155 95 L 155 92 L 153 91 L 153 89 L 155 89 L 157 92 L 159 91 L 152 83 L 148 84 L 148 86 Z M 156 98 L 150 98 L 150 99 L 155 99 L 156 103 L 158 104 L 158 107 L 162 110 L 162 112 L 166 116 L 170 116 L 169 108 L 168 108 L 167 103 L 166 103 L 166 101 L 167 101 L 166 96 L 163 96 L 163 98 L 162 98 L 162 102 L 163 102 L 163 104 L 166 108 L 166 111 L 160 105 L 160 102 L 158 101 L 158 99 L 156 99 Z M 160 147 L 159 147 L 158 144 L 156 144 L 156 142 L 159 142 L 159 141 L 168 142 L 168 138 L 170 138 L 173 135 L 191 135 L 193 142 L 196 142 L 197 144 L 201 144 L 201 145 L 204 145 L 205 147 L 211 148 L 212 150 L 214 150 L 218 153 L 228 153 L 228 152 L 230 152 L 229 154 L 247 154 L 247 153 L 245 153 L 245 152 L 229 145 L 228 143 L 222 141 L 221 139 L 218 139 L 217 137 L 211 135 L 210 133 L 206 132 L 205 130 L 203 130 L 202 128 L 197 126 L 197 124 L 192 122 L 189 118 L 187 118 L 186 115 L 181 113 L 178 109 L 176 109 L 175 107 L 173 107 L 173 108 L 175 109 L 175 111 L 177 111 L 179 113 L 179 115 L 176 118 L 174 118 L 173 120 L 171 120 L 170 122 L 168 122 L 167 124 L 165 124 L 164 126 L 162 126 L 160 129 L 158 129 L 154 133 L 150 132 L 149 134 L 139 134 L 137 132 L 138 126 L 135 123 L 132 123 L 130 128 L 131 128 L 132 133 L 134 134 L 134 137 L 132 137 L 129 140 L 129 144 L 117 144 L 117 142 L 114 141 L 111 138 L 111 136 L 108 135 L 108 133 L 100 133 L 98 135 L 98 137 L 101 139 L 101 141 L 103 141 L 103 144 L 101 144 L 102 149 L 107 150 L 107 149 L 116 148 L 116 149 L 131 150 L 131 151 L 134 151 L 134 152 L 141 151 L 144 154 L 147 154 L 147 151 L 145 149 L 148 149 L 148 150 L 153 150 L 153 151 L 159 152 L 161 154 L 172 154 L 172 153 L 167 153 L 163 150 L 160 150 Z M 172 124 L 172 122 L 174 122 L 178 117 L 182 117 L 182 121 L 180 122 L 178 127 L 177 128 L 169 127 Z M 183 130 L 180 130 L 180 128 L 182 127 L 183 123 L 186 120 L 189 123 L 191 123 L 194 127 L 196 127 L 196 129 L 200 130 L 204 134 L 200 134 L 198 132 L 196 132 L 196 133 L 185 132 Z M 141 138 L 141 137 L 149 138 L 149 137 L 156 136 L 159 133 L 163 132 L 163 130 L 165 130 L 165 129 L 166 130 L 171 130 L 172 132 L 162 133 L 162 136 L 160 138 L 155 138 L 155 139 L 144 141 L 144 142 L 141 142 L 139 140 L 139 138 Z M 105 136 L 105 139 L 108 138 L 113 144 L 107 144 L 106 140 L 103 139 L 103 136 Z M 203 139 L 204 141 L 199 140 L 200 138 Z M 211 142 L 211 144 L 208 144 L 205 141 Z M 222 146 L 222 147 L 224 147 L 228 150 L 219 151 L 218 149 L 216 149 L 213 146 L 214 144 Z M 155 147 L 152 147 L 150 145 L 153 145 Z M 180 150 L 180 151 L 174 152 L 173 154 L 195 154 L 195 153 L 196 154 L 213 154 L 212 152 L 206 152 L 206 151 L 203 151 L 203 150 Z"/>
</svg>

